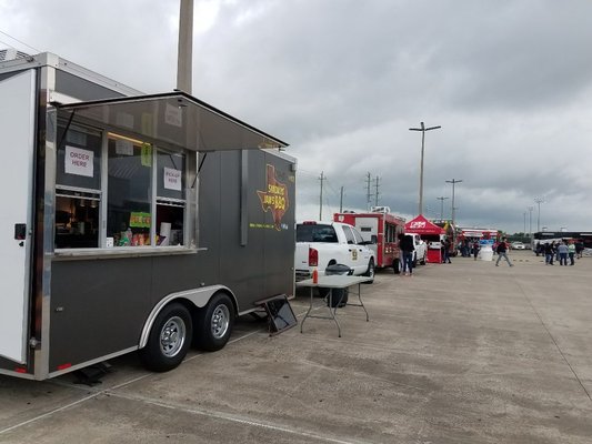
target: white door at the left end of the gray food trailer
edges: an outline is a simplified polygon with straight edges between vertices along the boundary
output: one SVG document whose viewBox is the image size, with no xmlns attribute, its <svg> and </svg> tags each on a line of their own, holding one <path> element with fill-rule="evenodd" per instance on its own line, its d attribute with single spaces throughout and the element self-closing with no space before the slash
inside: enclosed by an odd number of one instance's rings
<svg viewBox="0 0 592 444">
<path fill-rule="evenodd" d="M 0 80 L 0 355 L 24 363 L 34 139 L 34 71 Z"/>
</svg>

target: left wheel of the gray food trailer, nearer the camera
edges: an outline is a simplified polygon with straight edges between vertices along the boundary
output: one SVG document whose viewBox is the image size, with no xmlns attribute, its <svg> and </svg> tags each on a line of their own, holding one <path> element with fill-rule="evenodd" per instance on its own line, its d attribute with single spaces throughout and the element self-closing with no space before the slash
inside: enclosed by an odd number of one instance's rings
<svg viewBox="0 0 592 444">
<path fill-rule="evenodd" d="M 172 303 L 158 314 L 140 359 L 148 370 L 168 372 L 185 357 L 191 345 L 193 325 L 183 305 Z"/>
</svg>

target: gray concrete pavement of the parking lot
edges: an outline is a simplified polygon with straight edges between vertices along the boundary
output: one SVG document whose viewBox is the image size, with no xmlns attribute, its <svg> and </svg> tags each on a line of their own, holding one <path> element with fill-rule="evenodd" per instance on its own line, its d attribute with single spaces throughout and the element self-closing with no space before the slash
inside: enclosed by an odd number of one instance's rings
<svg viewBox="0 0 592 444">
<path fill-rule="evenodd" d="M 591 443 L 592 259 L 510 258 L 380 272 L 341 339 L 248 317 L 169 373 L 132 354 L 93 387 L 0 375 L 0 443 Z"/>
</svg>

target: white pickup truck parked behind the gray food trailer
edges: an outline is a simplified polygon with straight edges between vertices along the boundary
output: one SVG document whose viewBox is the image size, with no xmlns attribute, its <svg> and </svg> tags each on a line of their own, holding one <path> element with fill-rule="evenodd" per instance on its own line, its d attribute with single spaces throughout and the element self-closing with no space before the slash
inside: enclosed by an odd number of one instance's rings
<svg viewBox="0 0 592 444">
<path fill-rule="evenodd" d="M 295 280 L 312 276 L 317 269 L 320 275 L 327 266 L 348 265 L 353 275 L 374 278 L 374 252 L 368 246 L 358 230 L 340 222 L 302 222 L 297 224 L 294 256 Z"/>
</svg>

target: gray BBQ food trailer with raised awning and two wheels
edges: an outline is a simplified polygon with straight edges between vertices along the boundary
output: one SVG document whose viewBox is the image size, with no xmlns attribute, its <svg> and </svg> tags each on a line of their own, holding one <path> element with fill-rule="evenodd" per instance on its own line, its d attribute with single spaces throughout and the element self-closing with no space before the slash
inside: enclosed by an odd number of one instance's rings
<svg viewBox="0 0 592 444">
<path fill-rule="evenodd" d="M 215 351 L 293 295 L 295 160 L 189 94 L 51 53 L 0 62 L 0 373 Z"/>
</svg>

